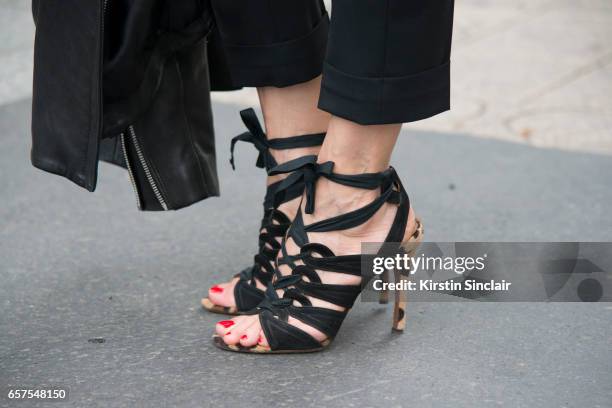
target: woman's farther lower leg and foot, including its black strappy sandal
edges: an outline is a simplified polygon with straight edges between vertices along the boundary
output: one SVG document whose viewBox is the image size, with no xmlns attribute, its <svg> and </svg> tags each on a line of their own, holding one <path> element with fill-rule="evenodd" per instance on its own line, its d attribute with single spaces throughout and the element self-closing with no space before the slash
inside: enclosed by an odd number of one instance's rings
<svg viewBox="0 0 612 408">
<path fill-rule="evenodd" d="M 248 112 L 241 112 L 250 134 L 247 132 L 234 140 L 253 143 L 260 153 L 258 166 L 265 167 L 266 170 L 271 169 L 277 163 L 318 154 L 325 137 L 324 133 L 319 132 L 327 130 L 331 116 L 317 109 L 320 90 L 321 76 L 282 88 L 258 88 L 257 93 L 266 124 L 266 133 L 251 109 Z M 244 113 L 246 113 L 246 118 Z M 235 141 L 232 142 L 232 149 Z M 268 178 L 267 199 L 273 198 L 274 194 L 270 191 L 274 189 L 272 186 L 285 176 L 278 175 Z M 204 307 L 211 311 L 231 310 L 241 313 L 259 304 L 264 297 L 263 289 L 268 283 L 268 277 L 274 271 L 274 259 L 280 246 L 280 238 L 286 232 L 297 211 L 299 200 L 295 200 L 294 203 L 291 201 L 301 196 L 302 192 L 303 187 L 294 186 L 294 189 L 278 203 L 281 204 L 280 207 L 275 205 L 277 208 L 270 209 L 267 205 L 269 203 L 264 203 L 265 216 L 261 228 L 263 234 L 260 235 L 259 253 L 255 257 L 255 264 L 250 269 L 247 268 L 241 272 L 240 277 L 214 285 L 209 290 L 209 297 L 202 299 Z M 269 222 L 267 216 L 270 214 L 274 221 L 268 224 L 269 228 L 266 228 L 265 224 Z M 264 242 L 263 245 L 262 242 Z M 249 300 L 244 301 L 245 298 Z M 213 302 L 225 307 L 216 308 Z"/>
</svg>

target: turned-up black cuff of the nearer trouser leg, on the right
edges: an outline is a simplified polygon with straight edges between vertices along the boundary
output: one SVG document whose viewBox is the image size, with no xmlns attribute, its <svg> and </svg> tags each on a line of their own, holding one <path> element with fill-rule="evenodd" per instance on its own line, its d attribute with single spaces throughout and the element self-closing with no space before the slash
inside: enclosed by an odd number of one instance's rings
<svg viewBox="0 0 612 408">
<path fill-rule="evenodd" d="M 450 109 L 450 61 L 402 77 L 360 77 L 325 63 L 319 109 L 361 125 L 414 122 Z"/>
</svg>

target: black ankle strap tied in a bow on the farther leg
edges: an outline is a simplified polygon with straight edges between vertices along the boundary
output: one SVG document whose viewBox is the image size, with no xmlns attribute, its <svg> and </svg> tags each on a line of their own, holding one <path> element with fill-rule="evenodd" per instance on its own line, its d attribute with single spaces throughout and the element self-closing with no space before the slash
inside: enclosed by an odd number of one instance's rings
<svg viewBox="0 0 612 408">
<path fill-rule="evenodd" d="M 309 135 L 268 140 L 266 133 L 264 132 L 261 124 L 259 123 L 259 119 L 252 108 L 240 111 L 240 117 L 242 118 L 242 122 L 247 127 L 248 131 L 232 138 L 230 144 L 230 164 L 234 170 L 236 169 L 234 162 L 234 148 L 237 142 L 247 142 L 255 146 L 259 152 L 255 165 L 259 168 L 269 170 L 278 165 L 274 157 L 272 157 L 270 149 L 287 150 L 300 147 L 320 146 L 325 139 L 325 133 L 313 133 Z"/>
</svg>

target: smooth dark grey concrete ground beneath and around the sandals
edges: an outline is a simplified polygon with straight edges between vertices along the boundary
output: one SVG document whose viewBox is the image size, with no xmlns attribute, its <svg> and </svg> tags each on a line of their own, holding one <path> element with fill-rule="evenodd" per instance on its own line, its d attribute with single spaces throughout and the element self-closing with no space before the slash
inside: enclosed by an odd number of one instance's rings
<svg viewBox="0 0 612 408">
<path fill-rule="evenodd" d="M 358 303 L 326 352 L 217 350 L 198 302 L 249 263 L 263 183 L 247 146 L 227 162 L 237 108 L 215 106 L 223 196 L 163 214 L 136 211 L 119 168 L 90 194 L 30 167 L 28 109 L 0 109 L 0 388 L 65 385 L 74 407 L 612 406 L 609 303 L 416 303 L 403 335 Z M 413 132 L 393 161 L 429 239 L 612 240 L 608 156 Z"/>
</svg>

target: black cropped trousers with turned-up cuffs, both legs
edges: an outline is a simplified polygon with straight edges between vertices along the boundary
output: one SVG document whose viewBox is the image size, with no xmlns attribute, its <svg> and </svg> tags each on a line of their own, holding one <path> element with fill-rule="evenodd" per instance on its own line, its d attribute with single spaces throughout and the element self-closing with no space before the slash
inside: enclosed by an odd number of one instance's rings
<svg viewBox="0 0 612 408">
<path fill-rule="evenodd" d="M 323 74 L 319 108 L 369 125 L 450 107 L 453 0 L 211 0 L 232 82 Z"/>
</svg>

